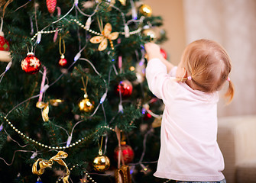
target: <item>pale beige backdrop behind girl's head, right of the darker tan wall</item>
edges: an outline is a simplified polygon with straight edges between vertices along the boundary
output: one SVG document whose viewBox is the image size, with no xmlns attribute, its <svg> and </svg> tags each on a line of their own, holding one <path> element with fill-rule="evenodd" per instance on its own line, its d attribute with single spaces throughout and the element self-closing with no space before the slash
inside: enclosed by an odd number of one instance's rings
<svg viewBox="0 0 256 183">
<path fill-rule="evenodd" d="M 235 98 L 219 116 L 256 114 L 256 1 L 183 0 L 186 43 L 216 40 L 232 58 Z"/>
</svg>

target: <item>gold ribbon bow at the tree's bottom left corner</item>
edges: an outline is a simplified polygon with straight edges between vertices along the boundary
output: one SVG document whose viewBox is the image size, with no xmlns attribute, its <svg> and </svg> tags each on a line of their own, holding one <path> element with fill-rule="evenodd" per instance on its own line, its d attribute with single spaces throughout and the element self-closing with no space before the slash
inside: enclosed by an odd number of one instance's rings
<svg viewBox="0 0 256 183">
<path fill-rule="evenodd" d="M 67 167 L 66 163 L 62 160 L 68 156 L 66 152 L 59 151 L 56 156 L 51 157 L 48 161 L 45 159 L 37 159 L 32 166 L 32 173 L 36 175 L 42 175 L 44 173 L 44 169 L 52 168 L 53 162 L 57 162 L 60 165 L 66 167 L 66 175 L 63 177 L 64 183 L 69 183 L 68 179 L 70 177 L 70 170 Z M 37 170 L 37 165 L 39 165 L 40 169 Z"/>
</svg>

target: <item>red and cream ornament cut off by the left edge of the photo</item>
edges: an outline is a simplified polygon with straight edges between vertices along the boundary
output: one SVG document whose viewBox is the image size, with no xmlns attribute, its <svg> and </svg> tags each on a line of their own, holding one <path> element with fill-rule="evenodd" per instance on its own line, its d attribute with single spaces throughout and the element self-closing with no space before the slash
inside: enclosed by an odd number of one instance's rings
<svg viewBox="0 0 256 183">
<path fill-rule="evenodd" d="M 7 40 L 5 40 L 4 33 L 0 31 L 0 61 L 9 62 L 11 61 L 10 47 Z"/>
</svg>

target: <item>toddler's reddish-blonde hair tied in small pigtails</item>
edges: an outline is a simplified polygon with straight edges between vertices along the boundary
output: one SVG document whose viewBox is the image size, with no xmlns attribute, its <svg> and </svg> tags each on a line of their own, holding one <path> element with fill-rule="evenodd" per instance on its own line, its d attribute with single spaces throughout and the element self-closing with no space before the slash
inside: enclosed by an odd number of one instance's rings
<svg viewBox="0 0 256 183">
<path fill-rule="evenodd" d="M 225 49 L 212 40 L 196 40 L 190 43 L 183 52 L 181 59 L 191 82 L 200 91 L 215 92 L 228 81 L 228 90 L 225 97 L 228 102 L 234 96 L 234 86 L 228 74 L 230 73 L 231 59 Z"/>
</svg>

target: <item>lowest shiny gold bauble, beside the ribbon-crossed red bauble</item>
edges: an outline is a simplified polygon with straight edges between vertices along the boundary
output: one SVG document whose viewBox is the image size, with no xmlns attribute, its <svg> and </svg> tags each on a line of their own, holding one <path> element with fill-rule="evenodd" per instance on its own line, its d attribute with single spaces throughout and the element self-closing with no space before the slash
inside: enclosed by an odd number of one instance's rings
<svg viewBox="0 0 256 183">
<path fill-rule="evenodd" d="M 110 160 L 108 156 L 102 155 L 102 150 L 99 150 L 99 156 L 93 159 L 92 165 L 96 171 L 105 172 L 110 167 Z"/>
</svg>

